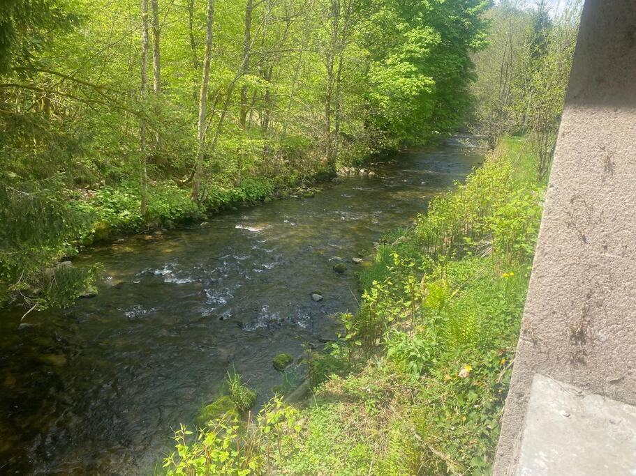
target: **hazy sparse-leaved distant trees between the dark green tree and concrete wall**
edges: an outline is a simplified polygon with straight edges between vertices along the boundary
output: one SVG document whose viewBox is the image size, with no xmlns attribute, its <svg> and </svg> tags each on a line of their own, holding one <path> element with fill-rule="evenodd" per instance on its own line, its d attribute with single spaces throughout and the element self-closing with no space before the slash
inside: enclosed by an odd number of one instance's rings
<svg viewBox="0 0 636 476">
<path fill-rule="evenodd" d="M 489 13 L 489 47 L 476 56 L 472 127 L 490 146 L 527 131 L 538 181 L 547 178 L 552 164 L 581 6 L 580 0 L 568 0 L 551 12 L 545 1 L 534 9 L 501 2 Z"/>
</svg>

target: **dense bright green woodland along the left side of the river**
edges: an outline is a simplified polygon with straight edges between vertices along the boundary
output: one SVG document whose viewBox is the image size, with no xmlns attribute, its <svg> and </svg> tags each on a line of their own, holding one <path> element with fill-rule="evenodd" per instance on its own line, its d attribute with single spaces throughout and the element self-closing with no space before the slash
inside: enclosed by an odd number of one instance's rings
<svg viewBox="0 0 636 476">
<path fill-rule="evenodd" d="M 70 302 L 90 273 L 45 270 L 78 238 L 187 220 L 448 135 L 471 102 L 488 6 L 5 2 L 0 300 Z"/>
</svg>

